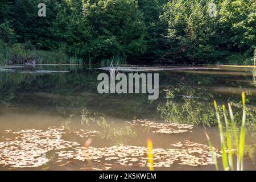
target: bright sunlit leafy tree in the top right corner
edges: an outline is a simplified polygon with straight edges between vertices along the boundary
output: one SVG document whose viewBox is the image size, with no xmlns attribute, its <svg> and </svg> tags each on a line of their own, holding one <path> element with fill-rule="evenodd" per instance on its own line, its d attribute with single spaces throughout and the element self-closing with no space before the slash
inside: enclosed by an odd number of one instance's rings
<svg viewBox="0 0 256 182">
<path fill-rule="evenodd" d="M 220 2 L 221 34 L 229 40 L 233 52 L 253 53 L 256 47 L 255 0 L 223 0 Z"/>
</svg>

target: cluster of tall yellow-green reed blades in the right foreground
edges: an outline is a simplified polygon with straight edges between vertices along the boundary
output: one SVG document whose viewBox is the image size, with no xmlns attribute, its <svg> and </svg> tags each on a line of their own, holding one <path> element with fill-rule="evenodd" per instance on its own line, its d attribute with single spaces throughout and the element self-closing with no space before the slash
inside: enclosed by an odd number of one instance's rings
<svg viewBox="0 0 256 182">
<path fill-rule="evenodd" d="M 240 130 L 240 138 L 238 138 L 238 129 L 237 124 L 234 121 L 234 115 L 232 111 L 232 107 L 230 103 L 228 103 L 229 107 L 229 115 L 231 120 L 231 130 L 228 123 L 228 117 L 226 115 L 226 109 L 225 105 L 222 105 L 222 111 L 224 114 L 224 120 L 225 120 L 225 126 L 226 126 L 226 132 L 224 131 L 220 119 L 220 114 L 217 107 L 217 102 L 214 100 L 214 107 L 216 109 L 216 117 L 218 121 L 218 129 L 220 130 L 220 140 L 221 140 L 221 151 L 222 151 L 222 164 L 224 170 L 234 170 L 234 164 L 233 164 L 233 149 L 232 149 L 232 131 L 234 134 L 235 142 L 236 142 L 236 152 L 237 152 L 237 171 L 243 170 L 243 154 L 244 154 L 244 148 L 245 148 L 245 121 L 246 121 L 246 107 L 245 107 L 245 92 L 242 92 L 242 125 Z M 207 135 L 207 133 L 205 133 Z M 225 138 L 226 136 L 226 138 Z M 216 155 L 213 151 L 212 142 L 210 142 L 210 138 L 207 135 L 209 146 L 212 150 L 213 160 L 216 165 L 216 169 L 218 170 L 218 163 L 216 159 Z M 226 140 L 225 140 L 226 139 Z M 226 152 L 226 144 L 228 147 L 228 152 Z M 228 154 L 227 154 L 228 153 Z"/>
</svg>

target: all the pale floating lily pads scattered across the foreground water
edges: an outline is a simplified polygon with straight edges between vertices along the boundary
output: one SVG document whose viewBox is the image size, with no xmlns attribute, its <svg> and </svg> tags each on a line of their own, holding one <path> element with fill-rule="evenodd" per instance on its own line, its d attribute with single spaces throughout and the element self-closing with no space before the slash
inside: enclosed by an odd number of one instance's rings
<svg viewBox="0 0 256 182">
<path fill-rule="evenodd" d="M 133 121 L 133 126 L 147 126 L 155 133 L 183 133 L 191 130 L 192 125 L 179 125 L 176 123 L 154 123 L 151 121 Z M 93 170 L 108 170 L 119 167 L 148 167 L 147 147 L 115 145 L 96 148 L 82 147 L 78 142 L 63 139 L 63 135 L 75 134 L 79 137 L 93 137 L 99 131 L 80 129 L 72 133 L 67 127 L 48 127 L 43 130 L 21 130 L 13 132 L 6 130 L 7 135 L 13 138 L 0 140 L 0 166 L 13 168 L 40 167 L 49 162 L 46 152 L 54 151 L 57 162 L 54 164 L 64 166 L 69 163 L 84 162 L 84 168 Z M 10 136 L 9 136 L 10 137 Z M 219 152 L 217 150 L 216 155 Z M 170 148 L 154 148 L 154 167 L 171 167 L 172 164 L 199 166 L 213 164 L 212 152 L 207 145 L 184 140 L 174 143 Z M 63 163 L 63 164 L 60 164 Z M 60 165 L 59 165 L 60 164 Z"/>
</svg>

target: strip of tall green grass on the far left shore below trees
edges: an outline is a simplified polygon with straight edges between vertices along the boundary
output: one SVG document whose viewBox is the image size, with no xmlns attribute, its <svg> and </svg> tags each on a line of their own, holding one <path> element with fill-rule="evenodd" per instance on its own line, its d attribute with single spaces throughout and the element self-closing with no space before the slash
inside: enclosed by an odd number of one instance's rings
<svg viewBox="0 0 256 182">
<path fill-rule="evenodd" d="M 68 55 L 64 43 L 55 51 L 36 50 L 27 44 L 13 45 L 0 42 L 0 65 L 26 64 L 34 61 L 36 64 L 92 64 L 97 62 L 102 66 L 126 64 L 126 57 L 113 56 L 112 59 L 85 59 L 80 55 Z"/>
</svg>

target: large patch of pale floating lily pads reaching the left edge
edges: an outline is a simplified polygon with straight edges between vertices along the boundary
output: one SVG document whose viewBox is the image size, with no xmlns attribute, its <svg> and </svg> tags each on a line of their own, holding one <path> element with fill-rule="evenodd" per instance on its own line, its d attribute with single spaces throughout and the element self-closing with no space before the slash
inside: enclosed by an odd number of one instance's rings
<svg viewBox="0 0 256 182">
<path fill-rule="evenodd" d="M 97 133 L 97 131 L 91 132 Z M 0 165 L 3 164 L 3 166 L 15 168 L 43 166 L 49 162 L 45 156 L 46 152 L 80 146 L 78 142 L 62 139 L 64 134 L 68 134 L 65 127 L 48 127 L 46 131 L 32 129 L 11 132 L 11 130 L 6 130 L 6 133 L 17 136 L 14 139 L 5 138 L 5 141 L 0 142 Z M 83 131 L 82 134 L 87 136 L 90 130 Z"/>
</svg>

